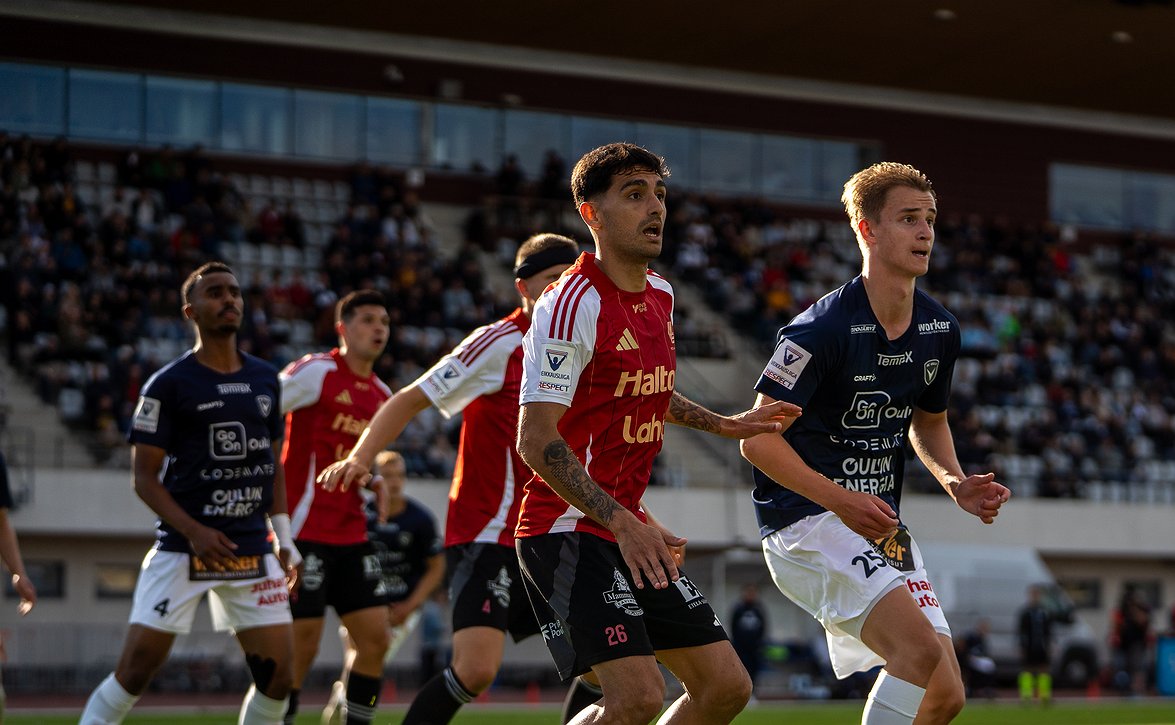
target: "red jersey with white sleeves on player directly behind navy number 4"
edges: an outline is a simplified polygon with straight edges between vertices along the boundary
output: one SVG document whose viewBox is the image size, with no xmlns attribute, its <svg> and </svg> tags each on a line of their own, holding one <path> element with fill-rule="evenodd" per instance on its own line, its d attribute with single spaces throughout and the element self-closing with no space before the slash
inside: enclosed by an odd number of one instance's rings
<svg viewBox="0 0 1175 725">
<path fill-rule="evenodd" d="M 351 452 L 371 416 L 391 397 L 391 389 L 375 375 L 355 375 L 338 348 L 291 362 L 278 378 L 286 414 L 282 465 L 294 538 L 363 543 L 367 517 L 358 486 L 327 491 L 315 479 Z"/>
</svg>

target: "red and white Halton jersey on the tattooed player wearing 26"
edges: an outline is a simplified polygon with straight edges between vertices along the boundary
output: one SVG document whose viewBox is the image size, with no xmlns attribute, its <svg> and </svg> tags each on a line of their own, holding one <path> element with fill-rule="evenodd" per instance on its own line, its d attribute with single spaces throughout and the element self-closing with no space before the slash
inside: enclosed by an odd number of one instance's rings
<svg viewBox="0 0 1175 725">
<path fill-rule="evenodd" d="M 645 521 L 640 497 L 662 448 L 676 375 L 672 287 L 650 271 L 644 291 L 624 291 L 584 253 L 535 307 L 523 341 L 521 402 L 568 405 L 559 434 L 592 481 Z M 517 536 L 559 531 L 616 541 L 535 475 Z"/>
</svg>

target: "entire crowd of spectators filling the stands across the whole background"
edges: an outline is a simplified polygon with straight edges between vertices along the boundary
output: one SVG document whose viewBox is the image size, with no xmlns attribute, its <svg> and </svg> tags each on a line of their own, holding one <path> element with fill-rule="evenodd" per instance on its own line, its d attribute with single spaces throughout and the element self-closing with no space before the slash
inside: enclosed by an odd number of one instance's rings
<svg viewBox="0 0 1175 725">
<path fill-rule="evenodd" d="M 394 337 L 377 371 L 392 388 L 512 304 L 488 290 L 479 254 L 442 257 L 417 189 L 389 169 L 351 169 L 349 200 L 309 244 L 298 200 L 246 193 L 200 148 L 127 149 L 99 199 L 79 192 L 73 155 L 62 139 L 0 132 L 4 329 L 9 363 L 93 434 L 98 454 L 121 445 L 140 384 L 189 340 L 180 281 L 209 259 L 231 262 L 234 246 L 314 250 L 304 267 L 239 268 L 242 345 L 275 365 L 331 347 L 334 303 L 351 289 L 388 295 Z M 503 239 L 563 229 L 562 160 L 548 166 L 526 183 L 504 165 L 465 243 L 509 266 L 513 244 Z M 961 322 L 951 416 L 966 464 L 1055 497 L 1086 496 L 1086 482 L 1155 484 L 1155 471 L 1175 470 L 1170 249 L 1143 234 L 1090 247 L 1047 223 L 953 214 L 936 234 L 922 287 Z M 671 195 L 665 236 L 659 268 L 728 321 L 716 330 L 678 310 L 684 354 L 728 355 L 727 334 L 770 349 L 780 325 L 860 264 L 839 215 L 795 219 L 746 200 Z M 448 475 L 454 431 L 418 416 L 401 439 L 410 472 Z"/>
</svg>

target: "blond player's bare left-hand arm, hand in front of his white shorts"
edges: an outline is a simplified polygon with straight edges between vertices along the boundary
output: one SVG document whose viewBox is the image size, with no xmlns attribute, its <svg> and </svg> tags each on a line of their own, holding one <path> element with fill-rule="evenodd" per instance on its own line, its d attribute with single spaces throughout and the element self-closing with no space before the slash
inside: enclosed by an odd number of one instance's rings
<svg viewBox="0 0 1175 725">
<path fill-rule="evenodd" d="M 756 407 L 773 402 L 760 394 Z M 791 421 L 784 423 L 785 429 L 790 425 Z M 898 529 L 898 515 L 882 498 L 850 491 L 821 476 L 800 458 L 784 436 L 766 434 L 746 438 L 739 443 L 739 451 L 772 481 L 832 511 L 865 538 L 884 538 Z"/>
</svg>

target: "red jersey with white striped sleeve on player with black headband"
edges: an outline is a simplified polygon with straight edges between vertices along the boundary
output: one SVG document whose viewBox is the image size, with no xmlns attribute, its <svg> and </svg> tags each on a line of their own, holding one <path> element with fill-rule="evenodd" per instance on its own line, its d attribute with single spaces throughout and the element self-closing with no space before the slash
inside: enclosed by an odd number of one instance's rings
<svg viewBox="0 0 1175 725">
<path fill-rule="evenodd" d="M 414 383 L 446 418 L 463 412 L 457 466 L 449 489 L 444 545 L 513 546 L 522 484 L 531 476 L 515 449 L 522 309 L 470 333 Z"/>
</svg>

